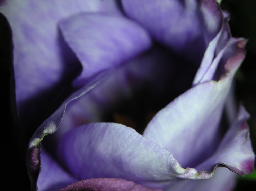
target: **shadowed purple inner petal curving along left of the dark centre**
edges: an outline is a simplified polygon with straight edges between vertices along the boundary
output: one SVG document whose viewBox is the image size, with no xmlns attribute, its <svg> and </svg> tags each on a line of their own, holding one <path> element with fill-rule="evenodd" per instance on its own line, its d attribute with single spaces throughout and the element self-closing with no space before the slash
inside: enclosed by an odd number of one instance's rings
<svg viewBox="0 0 256 191">
<path fill-rule="evenodd" d="M 139 100 L 135 105 L 130 105 L 131 107 L 126 109 L 133 107 L 139 118 L 145 117 L 148 110 L 157 112 L 172 97 L 175 98 L 191 86 L 187 79 L 192 81 L 193 69 L 177 76 L 176 71 L 180 69 L 178 68 L 180 67 L 179 63 L 182 64 L 182 67 L 191 66 L 189 63 L 186 65 L 185 62 L 170 56 L 168 50 L 155 47 L 110 71 L 97 87 L 68 104 L 59 130 L 49 136 L 48 139 L 51 140 L 47 141 L 51 141 L 51 144 L 55 145 L 65 132 L 74 127 L 91 122 L 106 121 L 104 118 L 106 115 L 113 115 L 117 111 L 117 107 L 124 107 L 122 106 L 124 102 L 136 98 L 138 93 L 147 96 L 147 99 L 142 98 L 143 101 Z M 196 70 L 194 71 L 196 72 Z M 186 76 L 186 80 L 184 80 L 184 76 Z M 173 83 L 174 80 L 177 84 Z M 182 84 L 181 87 L 180 84 Z M 166 90 L 167 86 L 169 90 Z M 164 102 L 160 107 L 159 101 L 155 102 L 159 99 Z M 157 109 L 154 110 L 155 108 Z M 144 125 L 147 123 L 148 121 Z M 141 130 L 141 134 L 143 130 Z"/>
</svg>

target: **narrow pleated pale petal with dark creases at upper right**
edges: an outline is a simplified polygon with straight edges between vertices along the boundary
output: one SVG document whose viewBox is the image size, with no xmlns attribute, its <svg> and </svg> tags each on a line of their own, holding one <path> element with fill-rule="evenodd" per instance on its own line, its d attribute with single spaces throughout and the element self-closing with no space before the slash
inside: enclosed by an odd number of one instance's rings
<svg viewBox="0 0 256 191">
<path fill-rule="evenodd" d="M 228 25 L 229 14 L 224 13 L 224 24 L 221 31 L 209 43 L 204 53 L 204 57 L 193 80 L 193 86 L 198 83 L 218 80 L 224 74 L 224 65 L 227 60 L 235 56 L 241 49 L 244 49 L 246 40 L 243 38 L 233 38 Z"/>
</svg>

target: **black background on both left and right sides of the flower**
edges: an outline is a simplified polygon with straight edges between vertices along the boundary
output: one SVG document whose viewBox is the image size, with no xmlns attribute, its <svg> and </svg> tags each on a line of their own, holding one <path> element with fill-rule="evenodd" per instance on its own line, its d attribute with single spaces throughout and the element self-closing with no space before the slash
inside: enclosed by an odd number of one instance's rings
<svg viewBox="0 0 256 191">
<path fill-rule="evenodd" d="M 249 39 L 246 59 L 236 74 L 236 96 L 243 100 L 251 114 L 248 123 L 251 140 L 256 151 L 256 1 L 223 0 L 221 7 L 230 12 L 230 27 L 235 37 Z M 5 190 L 30 190 L 26 171 L 25 153 L 27 140 L 19 126 L 14 97 L 12 45 L 6 19 L 0 16 L 0 88 L 1 88 L 1 179 Z M 255 190 L 256 175 L 238 179 L 236 191 Z"/>
</svg>

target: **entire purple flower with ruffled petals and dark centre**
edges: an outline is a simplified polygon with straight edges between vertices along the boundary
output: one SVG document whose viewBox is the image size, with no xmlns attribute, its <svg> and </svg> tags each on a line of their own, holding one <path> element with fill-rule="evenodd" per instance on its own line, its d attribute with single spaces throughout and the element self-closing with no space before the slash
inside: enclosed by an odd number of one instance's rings
<svg viewBox="0 0 256 191">
<path fill-rule="evenodd" d="M 29 142 L 33 190 L 221 191 L 253 171 L 232 91 L 246 40 L 215 0 L 9 0 L 1 12 L 24 124 L 60 87 L 77 90 Z"/>
</svg>

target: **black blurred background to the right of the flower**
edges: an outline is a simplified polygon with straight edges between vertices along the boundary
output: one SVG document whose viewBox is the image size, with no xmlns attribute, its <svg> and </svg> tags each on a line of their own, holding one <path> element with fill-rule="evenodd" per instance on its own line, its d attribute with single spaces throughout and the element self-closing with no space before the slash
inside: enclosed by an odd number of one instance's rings
<svg viewBox="0 0 256 191">
<path fill-rule="evenodd" d="M 245 61 L 236 74 L 235 91 L 237 99 L 243 101 L 246 110 L 251 115 L 248 124 L 254 153 L 256 153 L 256 1 L 222 0 L 221 8 L 230 13 L 229 24 L 232 35 L 249 39 Z M 255 189 L 255 170 L 251 175 L 238 177 L 235 191 Z"/>
</svg>

